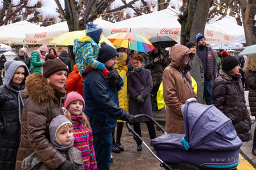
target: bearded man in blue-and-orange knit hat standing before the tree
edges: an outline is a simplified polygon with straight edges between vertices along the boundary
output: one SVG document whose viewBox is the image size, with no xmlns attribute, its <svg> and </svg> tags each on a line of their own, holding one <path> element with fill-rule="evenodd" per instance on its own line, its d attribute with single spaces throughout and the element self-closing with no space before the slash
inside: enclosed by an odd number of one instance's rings
<svg viewBox="0 0 256 170">
<path fill-rule="evenodd" d="M 196 35 L 196 55 L 204 67 L 204 99 L 207 105 L 212 104 L 212 82 L 217 76 L 217 60 L 211 46 L 206 45 L 202 34 Z"/>
</svg>

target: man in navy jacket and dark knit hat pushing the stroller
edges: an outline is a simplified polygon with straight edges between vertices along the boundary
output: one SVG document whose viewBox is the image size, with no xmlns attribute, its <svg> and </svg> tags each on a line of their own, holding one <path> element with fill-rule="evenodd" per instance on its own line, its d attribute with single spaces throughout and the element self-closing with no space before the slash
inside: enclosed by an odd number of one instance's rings
<svg viewBox="0 0 256 170">
<path fill-rule="evenodd" d="M 108 44 L 100 47 L 99 62 L 109 71 L 114 69 L 118 53 Z M 111 72 L 112 73 L 112 72 Z M 118 74 L 118 73 L 117 73 Z M 116 119 L 133 124 L 135 118 L 118 107 L 118 91 L 111 90 L 108 80 L 99 69 L 93 69 L 84 78 L 84 113 L 89 117 L 93 131 L 93 146 L 99 169 L 109 169 L 111 163 L 112 134 Z"/>
</svg>

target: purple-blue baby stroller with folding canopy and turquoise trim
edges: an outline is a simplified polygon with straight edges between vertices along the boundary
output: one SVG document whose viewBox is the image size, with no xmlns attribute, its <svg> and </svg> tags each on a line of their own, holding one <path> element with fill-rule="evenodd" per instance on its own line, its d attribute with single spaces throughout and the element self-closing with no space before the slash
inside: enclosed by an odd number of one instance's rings
<svg viewBox="0 0 256 170">
<path fill-rule="evenodd" d="M 236 169 L 242 141 L 230 118 L 214 105 L 197 103 L 194 98 L 188 99 L 182 106 L 182 114 L 185 134 L 165 132 L 151 140 L 151 146 L 156 150 L 155 157 L 160 160 L 161 166 L 165 169 L 186 170 Z M 163 131 L 159 126 L 157 124 L 157 130 Z"/>
</svg>

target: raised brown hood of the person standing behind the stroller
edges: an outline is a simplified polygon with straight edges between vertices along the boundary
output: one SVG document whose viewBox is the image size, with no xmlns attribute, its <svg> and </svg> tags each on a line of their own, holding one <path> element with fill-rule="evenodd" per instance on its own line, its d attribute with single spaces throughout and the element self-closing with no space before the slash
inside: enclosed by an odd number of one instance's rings
<svg viewBox="0 0 256 170">
<path fill-rule="evenodd" d="M 184 46 L 184 45 L 175 45 L 173 46 L 171 53 L 170 53 L 170 57 L 172 59 L 171 64 L 173 64 L 174 66 L 180 67 L 184 64 L 182 64 L 181 60 L 182 60 L 182 56 L 183 55 L 193 55 L 193 53 L 191 52 L 191 50 L 189 50 L 188 47 Z M 185 65 L 181 67 L 181 69 L 184 69 Z"/>
</svg>

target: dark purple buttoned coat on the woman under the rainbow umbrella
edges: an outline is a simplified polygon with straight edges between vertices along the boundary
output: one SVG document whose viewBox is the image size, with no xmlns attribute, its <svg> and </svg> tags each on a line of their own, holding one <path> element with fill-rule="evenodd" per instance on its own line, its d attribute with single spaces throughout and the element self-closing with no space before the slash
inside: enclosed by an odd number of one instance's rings
<svg viewBox="0 0 256 170">
<path fill-rule="evenodd" d="M 150 92 L 153 89 L 153 81 L 151 73 L 148 69 L 142 68 L 138 73 L 132 71 L 128 75 L 127 90 L 129 97 L 129 113 L 131 115 L 145 114 L 150 117 L 152 115 L 152 106 L 150 101 Z M 144 103 L 138 103 L 136 97 L 143 96 Z M 135 122 L 149 121 L 146 117 L 138 117 Z"/>
</svg>

